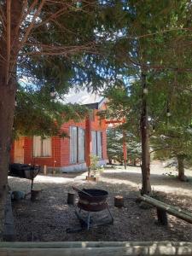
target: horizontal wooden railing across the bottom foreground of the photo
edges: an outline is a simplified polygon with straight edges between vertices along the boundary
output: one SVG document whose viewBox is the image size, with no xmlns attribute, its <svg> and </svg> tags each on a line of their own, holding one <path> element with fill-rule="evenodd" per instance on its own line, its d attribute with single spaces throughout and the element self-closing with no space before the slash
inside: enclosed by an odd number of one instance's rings
<svg viewBox="0 0 192 256">
<path fill-rule="evenodd" d="M 3 256 L 192 255 L 191 242 L 68 241 L 0 242 Z"/>
</svg>

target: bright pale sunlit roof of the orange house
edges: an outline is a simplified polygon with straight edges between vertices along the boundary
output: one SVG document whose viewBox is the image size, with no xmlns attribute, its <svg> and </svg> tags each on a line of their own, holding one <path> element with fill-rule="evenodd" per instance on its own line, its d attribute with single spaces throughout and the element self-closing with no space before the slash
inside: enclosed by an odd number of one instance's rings
<svg viewBox="0 0 192 256">
<path fill-rule="evenodd" d="M 65 103 L 86 105 L 89 108 L 100 108 L 105 98 L 100 93 L 88 92 L 87 90 L 69 90 L 69 93 L 64 96 Z"/>
</svg>

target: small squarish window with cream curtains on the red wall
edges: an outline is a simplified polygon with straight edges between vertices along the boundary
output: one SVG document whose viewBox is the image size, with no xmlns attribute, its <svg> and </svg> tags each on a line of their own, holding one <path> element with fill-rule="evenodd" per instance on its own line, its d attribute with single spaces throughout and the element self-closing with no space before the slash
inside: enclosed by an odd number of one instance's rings
<svg viewBox="0 0 192 256">
<path fill-rule="evenodd" d="M 49 157 L 51 156 L 51 138 L 42 138 L 40 136 L 33 137 L 33 156 Z"/>
</svg>

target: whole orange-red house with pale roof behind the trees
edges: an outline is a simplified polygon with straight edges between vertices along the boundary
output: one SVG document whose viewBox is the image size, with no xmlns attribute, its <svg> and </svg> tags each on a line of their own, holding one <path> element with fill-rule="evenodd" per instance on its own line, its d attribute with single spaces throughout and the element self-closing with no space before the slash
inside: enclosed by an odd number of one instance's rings
<svg viewBox="0 0 192 256">
<path fill-rule="evenodd" d="M 20 137 L 12 152 L 12 163 L 47 166 L 61 172 L 83 171 L 90 166 L 90 155 L 98 156 L 99 164 L 107 162 L 107 124 L 97 113 L 106 108 L 105 99 L 96 94 L 80 91 L 67 96 L 67 102 L 81 103 L 92 109 L 90 117 L 80 123 L 73 120 L 63 124 L 61 130 L 69 137 Z"/>
</svg>

